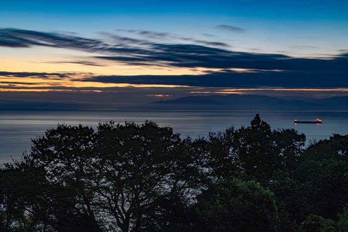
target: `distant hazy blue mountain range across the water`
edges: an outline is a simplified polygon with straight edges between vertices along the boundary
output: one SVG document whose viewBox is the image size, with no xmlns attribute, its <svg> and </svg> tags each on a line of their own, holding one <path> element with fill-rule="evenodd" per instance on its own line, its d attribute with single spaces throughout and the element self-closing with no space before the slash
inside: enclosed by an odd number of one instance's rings
<svg viewBox="0 0 348 232">
<path fill-rule="evenodd" d="M 188 96 L 152 102 L 152 109 L 196 110 L 348 110 L 348 96 L 324 99 L 285 100 L 264 95 Z"/>
</svg>

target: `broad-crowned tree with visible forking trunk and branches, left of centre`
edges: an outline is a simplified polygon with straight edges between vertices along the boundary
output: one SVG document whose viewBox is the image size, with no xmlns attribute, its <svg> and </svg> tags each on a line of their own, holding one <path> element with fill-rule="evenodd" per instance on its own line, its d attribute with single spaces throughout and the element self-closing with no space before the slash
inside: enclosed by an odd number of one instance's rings
<svg viewBox="0 0 348 232">
<path fill-rule="evenodd" d="M 164 200 L 190 204 L 201 175 L 199 157 L 189 145 L 172 128 L 153 122 L 100 124 L 95 167 L 100 172 L 93 182 L 101 196 L 97 204 L 123 232 L 140 231 L 144 218 Z"/>
</svg>

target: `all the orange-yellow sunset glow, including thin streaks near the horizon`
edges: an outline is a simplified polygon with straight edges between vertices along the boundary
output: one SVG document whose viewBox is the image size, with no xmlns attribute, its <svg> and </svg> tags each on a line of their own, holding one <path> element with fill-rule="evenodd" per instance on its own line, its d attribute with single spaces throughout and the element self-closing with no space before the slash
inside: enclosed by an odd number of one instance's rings
<svg viewBox="0 0 348 232">
<path fill-rule="evenodd" d="M 120 62 L 100 61 L 100 66 L 88 66 L 74 62 L 82 57 L 91 57 L 90 53 L 74 51 L 68 49 L 55 48 L 30 48 L 13 50 L 10 48 L 1 48 L 2 51 L 9 53 L 5 58 L 0 58 L 0 71 L 3 72 L 33 72 L 47 73 L 47 77 L 6 77 L 0 76 L 0 91 L 3 92 L 47 92 L 47 91 L 93 91 L 103 92 L 112 91 L 107 88 L 185 88 L 181 90 L 184 93 L 201 93 L 201 94 L 250 94 L 258 91 L 273 92 L 348 92 L 348 88 L 280 88 L 280 87 L 260 87 L 260 88 L 223 88 L 223 87 L 202 87 L 176 84 L 132 84 L 132 83 L 106 83 L 98 81 L 88 81 L 88 77 L 102 75 L 119 75 L 119 76 L 137 76 L 137 75 L 158 75 L 158 76 L 180 76 L 180 75 L 199 75 L 209 74 L 210 72 L 222 72 L 222 69 L 207 68 L 185 68 L 169 66 L 133 66 Z M 73 56 L 72 56 L 73 55 Z M 70 58 L 68 58 L 70 57 Z M 54 63 L 54 61 L 59 61 Z M 93 63 L 94 60 L 87 62 Z M 62 71 L 62 68 L 65 70 Z M 83 70 L 83 72 L 76 72 Z M 255 69 L 225 69 L 240 73 L 257 73 L 262 70 Z M 281 70 L 267 70 L 268 72 L 282 72 Z M 49 76 L 50 73 L 67 74 L 70 76 L 58 77 Z M 63 89 L 60 89 L 63 88 Z M 161 91 L 162 92 L 162 91 Z M 182 92 L 182 93 L 183 93 Z M 325 93 L 326 94 L 326 93 Z M 169 97 L 170 94 L 147 94 L 156 97 Z"/>
</svg>

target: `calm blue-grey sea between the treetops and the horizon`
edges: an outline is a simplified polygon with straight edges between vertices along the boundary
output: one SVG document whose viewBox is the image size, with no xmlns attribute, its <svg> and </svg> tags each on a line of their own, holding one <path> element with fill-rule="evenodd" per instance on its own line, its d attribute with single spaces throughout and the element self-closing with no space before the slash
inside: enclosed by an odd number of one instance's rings
<svg viewBox="0 0 348 232">
<path fill-rule="evenodd" d="M 295 128 L 307 140 L 329 138 L 333 133 L 348 134 L 348 112 L 304 111 L 0 111 L 0 163 L 19 158 L 30 149 L 30 139 L 42 135 L 58 123 L 95 127 L 99 121 L 125 120 L 142 123 L 153 120 L 160 126 L 171 126 L 182 136 L 205 136 L 209 131 L 223 130 L 228 126 L 249 125 L 260 113 L 272 128 Z M 322 118 L 324 123 L 294 125 L 297 120 Z"/>
</svg>

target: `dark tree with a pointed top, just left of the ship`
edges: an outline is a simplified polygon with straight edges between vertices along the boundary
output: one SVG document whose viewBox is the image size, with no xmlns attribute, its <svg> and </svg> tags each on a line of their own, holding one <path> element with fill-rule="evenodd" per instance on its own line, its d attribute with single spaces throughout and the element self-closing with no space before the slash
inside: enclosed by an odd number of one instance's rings
<svg viewBox="0 0 348 232">
<path fill-rule="evenodd" d="M 293 129 L 271 130 L 257 114 L 249 127 L 230 127 L 198 141 L 207 154 L 206 168 L 213 179 L 242 174 L 262 182 L 273 172 L 292 172 L 296 168 L 305 136 Z"/>
</svg>

